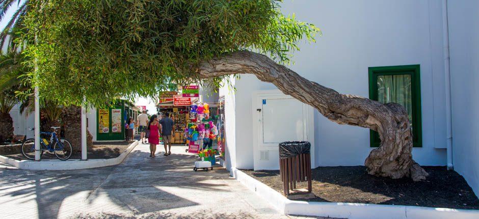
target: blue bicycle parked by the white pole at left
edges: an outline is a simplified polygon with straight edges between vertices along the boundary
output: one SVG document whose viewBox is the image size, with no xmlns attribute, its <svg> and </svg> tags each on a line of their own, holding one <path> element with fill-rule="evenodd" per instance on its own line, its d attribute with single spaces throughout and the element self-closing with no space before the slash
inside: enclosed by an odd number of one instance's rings
<svg viewBox="0 0 479 219">
<path fill-rule="evenodd" d="M 50 128 L 54 129 L 53 132 L 40 132 L 40 134 L 50 136 L 50 141 L 40 138 L 40 157 L 44 151 L 49 151 L 55 153 L 58 159 L 68 160 L 73 151 L 70 141 L 57 138 L 57 129 L 60 127 L 54 126 Z M 21 144 L 21 153 L 28 159 L 35 159 L 35 139 L 25 140 L 23 144 Z"/>
</svg>

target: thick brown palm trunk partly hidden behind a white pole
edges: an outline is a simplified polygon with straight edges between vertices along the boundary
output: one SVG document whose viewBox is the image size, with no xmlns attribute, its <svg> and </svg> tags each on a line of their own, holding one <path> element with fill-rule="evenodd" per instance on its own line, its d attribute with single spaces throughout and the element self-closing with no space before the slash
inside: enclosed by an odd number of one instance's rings
<svg viewBox="0 0 479 219">
<path fill-rule="evenodd" d="M 64 107 L 62 111 L 62 122 L 65 127 L 65 139 L 71 143 L 73 151 L 82 150 L 82 107 L 69 106 Z M 87 125 L 87 124 L 85 124 Z M 87 148 L 93 147 L 93 138 L 90 131 L 87 130 Z"/>
</svg>

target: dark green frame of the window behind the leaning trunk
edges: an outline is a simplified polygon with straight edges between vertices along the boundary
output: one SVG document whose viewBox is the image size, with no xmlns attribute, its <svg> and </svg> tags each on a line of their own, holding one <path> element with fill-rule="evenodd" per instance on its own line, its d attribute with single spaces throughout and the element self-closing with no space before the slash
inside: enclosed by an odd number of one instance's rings
<svg viewBox="0 0 479 219">
<path fill-rule="evenodd" d="M 419 65 L 369 67 L 369 99 L 378 100 L 379 75 L 404 75 L 411 78 L 413 147 L 422 147 L 421 124 L 421 77 Z M 370 147 L 379 147 L 381 141 L 377 131 L 370 130 Z"/>
</svg>

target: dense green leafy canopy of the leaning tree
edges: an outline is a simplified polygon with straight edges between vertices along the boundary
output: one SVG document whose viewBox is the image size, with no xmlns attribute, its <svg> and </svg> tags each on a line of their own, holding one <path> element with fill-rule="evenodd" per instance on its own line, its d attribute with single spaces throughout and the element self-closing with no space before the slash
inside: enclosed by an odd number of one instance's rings
<svg viewBox="0 0 479 219">
<path fill-rule="evenodd" d="M 198 81 L 195 65 L 252 50 L 287 63 L 313 24 L 283 16 L 274 0 L 31 1 L 19 40 L 32 85 L 62 104 L 155 96 L 171 81 Z M 35 42 L 35 43 L 34 43 Z M 214 84 L 222 77 L 211 78 Z"/>
</svg>

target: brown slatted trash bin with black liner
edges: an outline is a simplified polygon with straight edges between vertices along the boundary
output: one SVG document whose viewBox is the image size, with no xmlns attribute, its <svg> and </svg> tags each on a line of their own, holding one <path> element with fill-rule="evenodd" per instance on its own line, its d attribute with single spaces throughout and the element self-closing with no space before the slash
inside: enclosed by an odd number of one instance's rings
<svg viewBox="0 0 479 219">
<path fill-rule="evenodd" d="M 279 168 L 285 196 L 311 193 L 311 143 L 279 143 Z M 297 182 L 308 182 L 308 189 L 297 189 Z"/>
</svg>

